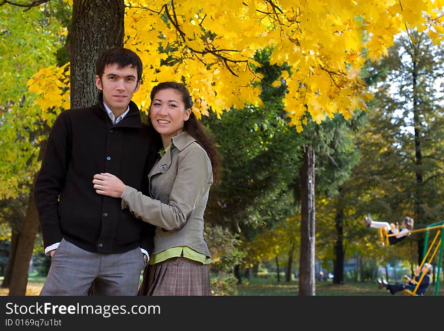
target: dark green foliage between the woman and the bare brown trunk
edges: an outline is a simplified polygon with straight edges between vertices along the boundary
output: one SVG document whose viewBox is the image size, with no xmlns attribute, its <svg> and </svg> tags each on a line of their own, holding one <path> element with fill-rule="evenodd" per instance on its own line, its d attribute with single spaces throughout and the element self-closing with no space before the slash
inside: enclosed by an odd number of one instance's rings
<svg viewBox="0 0 444 331">
<path fill-rule="evenodd" d="M 279 77 L 282 69 L 268 64 L 266 51 L 258 60 L 264 81 Z M 211 189 L 206 219 L 229 225 L 234 232 L 284 219 L 288 213 L 282 213 L 279 204 L 288 202 L 285 195 L 292 191 L 297 175 L 300 136 L 287 125 L 282 88 L 261 86 L 265 107 L 248 106 L 224 114 L 221 120 L 211 115 L 202 120 L 224 159 L 222 181 Z"/>
</svg>

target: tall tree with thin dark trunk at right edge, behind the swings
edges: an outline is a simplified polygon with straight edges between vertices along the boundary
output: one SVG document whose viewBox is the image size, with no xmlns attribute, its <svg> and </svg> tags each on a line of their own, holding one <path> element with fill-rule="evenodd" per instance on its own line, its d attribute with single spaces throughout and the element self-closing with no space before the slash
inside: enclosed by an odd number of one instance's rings
<svg viewBox="0 0 444 331">
<path fill-rule="evenodd" d="M 385 73 L 376 87 L 375 111 L 386 118 L 384 129 L 394 137 L 392 148 L 399 155 L 393 179 L 398 192 L 385 198 L 397 219 L 412 215 L 416 229 L 442 217 L 442 50 L 424 33 L 414 33 L 413 42 L 404 35 L 375 67 Z M 415 238 L 420 263 L 421 234 Z"/>
</svg>

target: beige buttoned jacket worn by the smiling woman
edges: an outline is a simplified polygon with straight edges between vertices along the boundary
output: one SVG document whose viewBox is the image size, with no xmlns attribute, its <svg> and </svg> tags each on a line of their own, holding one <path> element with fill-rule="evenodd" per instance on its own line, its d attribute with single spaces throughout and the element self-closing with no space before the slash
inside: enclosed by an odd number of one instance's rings
<svg viewBox="0 0 444 331">
<path fill-rule="evenodd" d="M 157 227 L 153 254 L 184 245 L 210 257 L 203 238 L 203 215 L 213 173 L 205 150 L 182 132 L 173 137 L 170 149 L 148 176 L 152 198 L 127 186 L 122 208 Z"/>
</svg>

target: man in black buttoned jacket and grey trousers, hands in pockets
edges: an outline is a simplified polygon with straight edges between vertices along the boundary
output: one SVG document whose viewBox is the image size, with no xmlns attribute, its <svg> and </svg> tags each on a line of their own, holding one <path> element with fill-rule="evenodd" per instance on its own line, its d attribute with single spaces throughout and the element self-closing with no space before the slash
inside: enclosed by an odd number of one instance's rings
<svg viewBox="0 0 444 331">
<path fill-rule="evenodd" d="M 97 104 L 54 122 L 34 194 L 51 255 L 40 295 L 86 295 L 92 282 L 95 295 L 137 295 L 153 227 L 123 210 L 120 199 L 96 194 L 92 180 L 109 172 L 138 190 L 148 187 L 159 146 L 131 101 L 141 77 L 136 53 L 105 49 L 96 61 Z"/>
</svg>

